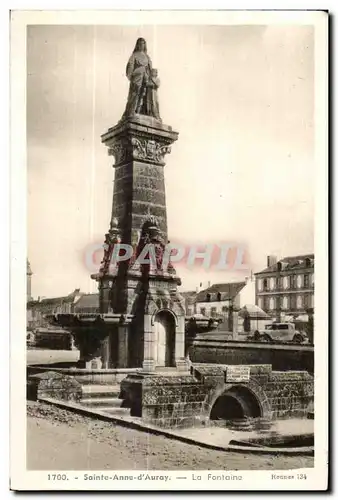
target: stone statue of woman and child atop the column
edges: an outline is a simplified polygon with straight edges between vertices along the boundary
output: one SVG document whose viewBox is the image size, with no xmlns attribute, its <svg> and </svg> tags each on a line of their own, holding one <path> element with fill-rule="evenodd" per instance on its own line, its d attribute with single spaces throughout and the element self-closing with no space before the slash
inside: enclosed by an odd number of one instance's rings
<svg viewBox="0 0 338 500">
<path fill-rule="evenodd" d="M 141 114 L 161 120 L 157 97 L 160 80 L 157 69 L 152 67 L 151 59 L 147 54 L 147 44 L 144 38 L 137 40 L 127 64 L 126 74 L 130 86 L 127 106 L 122 118 Z"/>
</svg>

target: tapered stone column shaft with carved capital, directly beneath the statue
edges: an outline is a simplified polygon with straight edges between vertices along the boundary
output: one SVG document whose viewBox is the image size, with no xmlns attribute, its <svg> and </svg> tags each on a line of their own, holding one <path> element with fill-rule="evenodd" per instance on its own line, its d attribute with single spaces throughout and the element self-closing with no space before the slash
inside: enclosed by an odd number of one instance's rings
<svg viewBox="0 0 338 500">
<path fill-rule="evenodd" d="M 167 239 L 164 158 L 178 133 L 150 116 L 135 115 L 102 135 L 115 157 L 112 219 L 119 221 L 122 242 L 137 244 L 144 222 L 156 217 Z"/>
</svg>

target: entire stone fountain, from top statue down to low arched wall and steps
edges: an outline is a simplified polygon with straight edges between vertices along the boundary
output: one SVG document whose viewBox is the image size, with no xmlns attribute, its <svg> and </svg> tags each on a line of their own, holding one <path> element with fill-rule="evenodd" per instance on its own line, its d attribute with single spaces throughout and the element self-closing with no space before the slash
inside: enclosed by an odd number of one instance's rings
<svg viewBox="0 0 338 500">
<path fill-rule="evenodd" d="M 159 427 L 306 414 L 313 402 L 313 376 L 291 366 L 286 371 L 272 368 L 271 360 L 286 346 L 277 353 L 266 345 L 238 347 L 226 344 L 222 331 L 221 339 L 210 339 L 207 349 L 205 338 L 194 341 L 196 333 L 210 331 L 217 322 L 185 318 L 181 282 L 168 258 L 164 166 L 178 133 L 161 120 L 160 81 L 145 40 L 137 40 L 126 73 L 130 86 L 125 111 L 102 135 L 115 158 L 115 180 L 104 257 L 92 276 L 98 283 L 100 311 L 54 317 L 72 332 L 80 361 L 74 369 L 53 369 L 52 377 L 50 371 L 32 375 L 37 394 L 44 391 L 49 398 L 75 399 L 82 405 L 90 405 L 91 394 L 96 405 L 95 394 L 102 401 L 102 385 L 107 384 L 106 412 L 122 404 L 119 411 Z M 202 353 L 192 366 L 185 357 L 185 331 L 186 344 L 196 344 L 192 352 Z M 261 349 L 267 348 L 267 364 L 261 364 Z M 254 364 L 252 349 L 259 364 Z M 298 359 L 304 353 L 295 354 Z"/>
</svg>

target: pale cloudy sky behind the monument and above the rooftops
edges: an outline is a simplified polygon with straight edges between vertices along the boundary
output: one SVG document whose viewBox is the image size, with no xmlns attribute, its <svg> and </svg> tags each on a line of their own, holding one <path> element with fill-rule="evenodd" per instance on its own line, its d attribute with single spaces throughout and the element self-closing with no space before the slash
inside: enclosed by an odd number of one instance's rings
<svg viewBox="0 0 338 500">
<path fill-rule="evenodd" d="M 250 269 L 314 248 L 311 26 L 29 26 L 28 258 L 34 297 L 95 292 L 86 264 L 111 217 L 101 135 L 121 118 L 139 36 L 158 68 L 168 234 L 246 245 Z M 245 271 L 247 275 L 248 272 Z M 181 290 L 243 271 L 181 266 Z"/>
</svg>

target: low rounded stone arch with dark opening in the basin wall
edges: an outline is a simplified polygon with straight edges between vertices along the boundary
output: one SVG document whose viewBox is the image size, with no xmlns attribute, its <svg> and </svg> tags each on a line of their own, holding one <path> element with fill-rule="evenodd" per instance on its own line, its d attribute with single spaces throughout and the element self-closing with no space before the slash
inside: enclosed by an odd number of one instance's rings
<svg viewBox="0 0 338 500">
<path fill-rule="evenodd" d="M 230 398 L 233 400 L 234 407 L 242 413 L 238 415 L 238 418 L 245 416 L 269 418 L 271 416 L 271 406 L 265 391 L 258 383 L 250 381 L 247 384 L 224 384 L 212 391 L 208 398 L 209 418 L 213 419 L 217 414 L 221 415 L 222 404 L 229 402 Z"/>
</svg>

